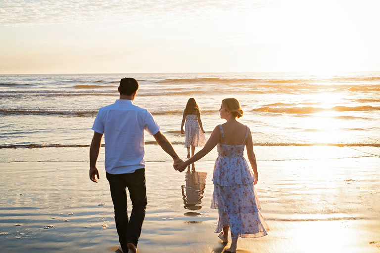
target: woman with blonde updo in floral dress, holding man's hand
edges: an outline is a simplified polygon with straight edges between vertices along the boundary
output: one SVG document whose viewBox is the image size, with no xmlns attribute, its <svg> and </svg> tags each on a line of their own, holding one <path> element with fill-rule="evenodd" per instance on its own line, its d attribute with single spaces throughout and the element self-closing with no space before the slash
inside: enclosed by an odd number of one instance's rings
<svg viewBox="0 0 380 253">
<path fill-rule="evenodd" d="M 236 120 L 243 115 L 238 100 L 223 99 L 219 112 L 220 117 L 227 122 L 215 127 L 202 150 L 176 166 L 185 168 L 217 145 L 219 156 L 212 178 L 214 193 L 211 208 L 218 209 L 216 232 L 221 232 L 219 238 L 223 242 L 228 242 L 228 231 L 231 229 L 231 247 L 226 252 L 235 253 L 238 237 L 265 236 L 269 228 L 259 212 L 261 208 L 253 187 L 257 183 L 258 173 L 252 135 L 248 127 Z M 243 158 L 244 146 L 253 173 Z"/>
</svg>

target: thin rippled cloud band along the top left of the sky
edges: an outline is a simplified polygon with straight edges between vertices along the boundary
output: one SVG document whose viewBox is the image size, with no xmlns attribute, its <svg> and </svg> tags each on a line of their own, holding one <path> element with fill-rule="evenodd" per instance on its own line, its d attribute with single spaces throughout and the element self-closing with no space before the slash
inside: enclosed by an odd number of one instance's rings
<svg viewBox="0 0 380 253">
<path fill-rule="evenodd" d="M 265 7 L 265 0 L 24 0 L 0 1 L 0 25 L 136 22 L 207 18 Z"/>
</svg>

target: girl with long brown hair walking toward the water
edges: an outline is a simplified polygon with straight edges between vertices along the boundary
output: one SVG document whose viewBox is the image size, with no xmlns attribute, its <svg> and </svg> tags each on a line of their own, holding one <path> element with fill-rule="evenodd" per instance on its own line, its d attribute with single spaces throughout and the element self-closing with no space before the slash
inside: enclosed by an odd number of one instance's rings
<svg viewBox="0 0 380 253">
<path fill-rule="evenodd" d="M 184 131 L 184 124 L 185 131 Z M 202 127 L 202 121 L 200 120 L 199 107 L 194 98 L 190 98 L 186 104 L 184 110 L 184 116 L 182 117 L 181 133 L 186 132 L 185 148 L 188 149 L 188 158 L 190 158 L 190 146 L 191 156 L 194 155 L 195 147 L 204 146 L 206 138 L 204 137 L 204 130 Z"/>
</svg>

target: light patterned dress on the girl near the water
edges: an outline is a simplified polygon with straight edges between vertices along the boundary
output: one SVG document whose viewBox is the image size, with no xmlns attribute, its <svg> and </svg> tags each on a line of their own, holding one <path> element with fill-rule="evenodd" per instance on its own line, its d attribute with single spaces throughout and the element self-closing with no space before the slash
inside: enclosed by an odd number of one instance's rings
<svg viewBox="0 0 380 253">
<path fill-rule="evenodd" d="M 189 114 L 186 116 L 185 133 L 185 148 L 190 146 L 199 147 L 206 144 L 206 138 L 200 130 L 196 115 Z"/>
</svg>

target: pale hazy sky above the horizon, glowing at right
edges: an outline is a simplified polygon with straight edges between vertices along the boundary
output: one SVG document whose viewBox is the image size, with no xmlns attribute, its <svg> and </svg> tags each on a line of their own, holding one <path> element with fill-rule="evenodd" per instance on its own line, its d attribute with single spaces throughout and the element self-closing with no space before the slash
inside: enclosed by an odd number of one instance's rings
<svg viewBox="0 0 380 253">
<path fill-rule="evenodd" d="M 380 71 L 380 0 L 0 0 L 0 74 Z"/>
</svg>

